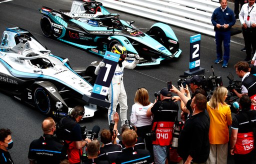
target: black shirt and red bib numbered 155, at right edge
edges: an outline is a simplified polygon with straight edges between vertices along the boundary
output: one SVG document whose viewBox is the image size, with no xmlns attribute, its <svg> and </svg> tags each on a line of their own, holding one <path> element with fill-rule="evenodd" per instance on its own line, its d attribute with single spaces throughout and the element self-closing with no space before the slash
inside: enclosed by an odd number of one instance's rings
<svg viewBox="0 0 256 164">
<path fill-rule="evenodd" d="M 246 113 L 246 114 L 244 114 Z M 245 116 L 247 115 L 247 116 Z M 236 143 L 234 145 L 234 161 L 235 163 L 251 163 L 253 157 L 254 136 L 252 132 L 252 125 L 248 119 L 256 126 L 256 111 L 242 110 L 233 117 L 232 129 L 238 129 Z"/>
</svg>

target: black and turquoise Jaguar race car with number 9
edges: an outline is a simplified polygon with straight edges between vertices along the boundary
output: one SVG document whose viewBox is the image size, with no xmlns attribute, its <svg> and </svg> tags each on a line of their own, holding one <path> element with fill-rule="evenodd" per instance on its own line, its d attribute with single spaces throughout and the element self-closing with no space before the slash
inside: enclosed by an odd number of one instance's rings
<svg viewBox="0 0 256 164">
<path fill-rule="evenodd" d="M 139 54 L 138 66 L 159 64 L 181 53 L 178 39 L 167 24 L 157 22 L 144 33 L 132 24 L 133 20 L 119 19 L 118 13 L 109 13 L 95 0 L 73 0 L 70 10 L 42 6 L 39 11 L 43 14 L 40 25 L 44 36 L 100 56 L 115 43 L 126 47 L 128 62 Z"/>
</svg>

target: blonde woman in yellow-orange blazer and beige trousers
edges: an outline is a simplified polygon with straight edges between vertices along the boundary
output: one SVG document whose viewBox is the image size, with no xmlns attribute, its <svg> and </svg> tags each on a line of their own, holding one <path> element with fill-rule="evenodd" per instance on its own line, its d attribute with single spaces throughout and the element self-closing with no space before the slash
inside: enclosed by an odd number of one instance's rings
<svg viewBox="0 0 256 164">
<path fill-rule="evenodd" d="M 231 111 L 225 103 L 227 89 L 217 87 L 207 102 L 207 111 L 210 117 L 209 141 L 210 154 L 206 163 L 226 163 L 228 152 L 229 131 L 232 123 Z"/>
</svg>

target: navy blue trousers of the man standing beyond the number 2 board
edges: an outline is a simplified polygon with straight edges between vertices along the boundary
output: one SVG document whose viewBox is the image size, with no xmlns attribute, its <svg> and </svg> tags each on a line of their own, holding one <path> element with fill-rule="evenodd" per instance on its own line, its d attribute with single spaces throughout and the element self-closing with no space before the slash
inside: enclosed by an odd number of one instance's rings
<svg viewBox="0 0 256 164">
<path fill-rule="evenodd" d="M 215 41 L 216 41 L 216 53 L 217 58 L 222 58 L 222 42 L 224 46 L 223 59 L 228 61 L 230 52 L 230 30 L 228 31 L 215 31 Z"/>
</svg>

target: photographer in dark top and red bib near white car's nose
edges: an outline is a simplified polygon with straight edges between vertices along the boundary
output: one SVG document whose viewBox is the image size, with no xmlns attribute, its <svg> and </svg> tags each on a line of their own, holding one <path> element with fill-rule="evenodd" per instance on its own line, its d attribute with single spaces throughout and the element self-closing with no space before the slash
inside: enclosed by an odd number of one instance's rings
<svg viewBox="0 0 256 164">
<path fill-rule="evenodd" d="M 79 121 L 82 119 L 84 114 L 83 106 L 75 106 L 71 111 L 71 116 L 63 117 L 59 121 L 60 128 L 64 128 L 65 133 L 61 134 L 64 136 L 64 141 L 67 148 L 67 157 L 70 163 L 80 163 L 80 156 L 82 155 L 82 147 L 84 147 L 90 139 L 82 139 L 81 126 Z"/>
</svg>

